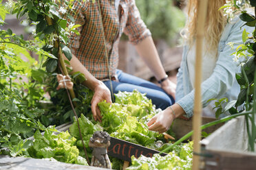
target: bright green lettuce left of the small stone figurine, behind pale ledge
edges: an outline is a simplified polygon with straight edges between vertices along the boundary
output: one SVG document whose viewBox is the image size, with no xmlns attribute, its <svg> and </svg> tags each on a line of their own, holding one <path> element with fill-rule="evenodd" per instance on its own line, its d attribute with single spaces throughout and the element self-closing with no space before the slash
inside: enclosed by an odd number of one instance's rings
<svg viewBox="0 0 256 170">
<path fill-rule="evenodd" d="M 79 156 L 79 151 L 74 145 L 76 138 L 70 136 L 69 132 L 54 134 L 54 127 L 47 127 L 44 135 L 36 130 L 34 142 L 28 152 L 32 158 L 52 158 L 60 162 L 88 165 L 85 158 Z"/>
</svg>

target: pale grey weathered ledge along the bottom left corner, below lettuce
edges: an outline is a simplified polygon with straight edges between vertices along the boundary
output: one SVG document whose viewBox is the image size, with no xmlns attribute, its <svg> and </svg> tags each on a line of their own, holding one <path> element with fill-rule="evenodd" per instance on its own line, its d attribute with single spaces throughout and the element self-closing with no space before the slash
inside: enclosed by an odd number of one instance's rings
<svg viewBox="0 0 256 170">
<path fill-rule="evenodd" d="M 67 164 L 63 162 L 53 162 L 44 159 L 34 158 L 11 158 L 0 155 L 1 170 L 100 170 L 103 168 L 89 167 L 84 165 Z"/>
</svg>

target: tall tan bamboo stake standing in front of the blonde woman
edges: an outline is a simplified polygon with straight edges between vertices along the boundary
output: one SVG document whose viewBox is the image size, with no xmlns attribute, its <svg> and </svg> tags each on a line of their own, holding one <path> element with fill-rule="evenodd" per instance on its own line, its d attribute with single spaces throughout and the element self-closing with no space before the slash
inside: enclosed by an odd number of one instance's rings
<svg viewBox="0 0 256 170">
<path fill-rule="evenodd" d="M 193 115 L 193 170 L 200 168 L 200 140 L 202 124 L 202 102 L 201 102 L 201 82 L 202 82 L 202 40 L 204 38 L 204 22 L 206 19 L 206 11 L 208 0 L 198 0 L 198 23 L 196 34 L 196 51 L 195 51 L 195 106 Z M 196 154 L 195 154 L 196 153 Z"/>
</svg>

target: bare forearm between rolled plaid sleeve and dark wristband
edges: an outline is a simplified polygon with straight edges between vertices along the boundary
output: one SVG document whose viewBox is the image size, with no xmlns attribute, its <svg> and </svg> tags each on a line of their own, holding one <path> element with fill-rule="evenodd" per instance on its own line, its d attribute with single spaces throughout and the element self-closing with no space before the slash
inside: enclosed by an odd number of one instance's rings
<svg viewBox="0 0 256 170">
<path fill-rule="evenodd" d="M 166 75 L 158 51 L 153 43 L 151 36 L 142 40 L 138 45 L 135 46 L 140 57 L 146 62 L 149 69 L 153 72 L 157 80 L 161 80 Z"/>
</svg>

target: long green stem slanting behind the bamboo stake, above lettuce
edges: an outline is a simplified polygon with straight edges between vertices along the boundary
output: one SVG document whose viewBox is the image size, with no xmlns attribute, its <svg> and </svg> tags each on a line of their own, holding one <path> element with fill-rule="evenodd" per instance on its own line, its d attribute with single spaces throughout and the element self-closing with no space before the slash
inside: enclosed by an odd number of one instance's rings
<svg viewBox="0 0 256 170">
<path fill-rule="evenodd" d="M 247 112 L 232 114 L 232 115 L 230 115 L 230 116 L 228 116 L 228 117 L 224 117 L 224 118 L 222 118 L 222 119 L 219 119 L 219 120 L 216 120 L 216 121 L 212 121 L 212 122 L 210 122 L 210 123 L 206 123 L 206 124 L 202 125 L 202 126 L 201 126 L 201 130 L 204 130 L 205 128 L 210 127 L 210 126 L 212 126 L 212 125 L 217 125 L 218 123 L 223 123 L 223 122 L 225 122 L 225 121 L 229 121 L 230 119 L 233 119 L 233 118 L 235 118 L 235 117 L 239 117 L 239 116 L 247 115 L 247 114 L 251 114 L 251 113 L 252 113 L 251 111 L 247 111 Z M 178 141 L 176 141 L 175 143 L 173 143 L 173 145 L 171 145 L 171 146 L 167 147 L 166 149 L 162 150 L 162 151 L 160 152 L 160 154 L 162 154 L 163 152 L 167 152 L 167 151 L 169 151 L 170 149 L 173 149 L 173 147 L 174 147 L 175 145 L 178 145 L 178 144 L 182 143 L 182 142 L 185 141 L 187 138 L 189 138 L 192 134 L 193 134 L 193 131 L 191 131 L 191 132 L 185 134 L 182 138 L 180 138 Z"/>
</svg>

